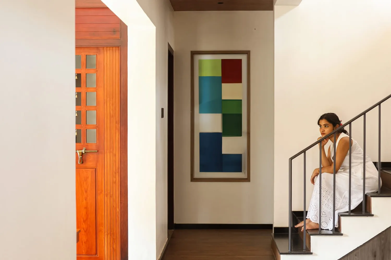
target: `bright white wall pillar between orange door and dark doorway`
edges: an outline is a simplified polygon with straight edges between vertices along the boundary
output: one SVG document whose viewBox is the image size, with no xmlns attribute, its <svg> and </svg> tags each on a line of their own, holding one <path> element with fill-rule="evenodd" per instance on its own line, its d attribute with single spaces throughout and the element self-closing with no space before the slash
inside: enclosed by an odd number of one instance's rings
<svg viewBox="0 0 391 260">
<path fill-rule="evenodd" d="M 167 241 L 167 42 L 169 0 L 104 0 L 128 26 L 129 254 L 158 258 Z M 156 68 L 156 70 L 155 70 Z"/>
</svg>

